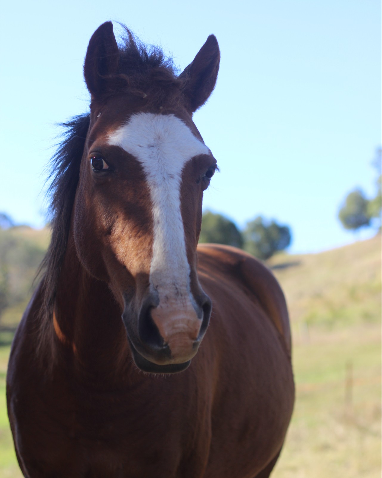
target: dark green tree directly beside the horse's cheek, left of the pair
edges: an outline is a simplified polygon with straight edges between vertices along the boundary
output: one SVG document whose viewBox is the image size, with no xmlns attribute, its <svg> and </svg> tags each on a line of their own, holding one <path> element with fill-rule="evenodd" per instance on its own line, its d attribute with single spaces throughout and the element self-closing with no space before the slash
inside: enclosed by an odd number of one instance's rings
<svg viewBox="0 0 382 478">
<path fill-rule="evenodd" d="M 206 211 L 202 216 L 199 242 L 215 242 L 239 248 L 243 246 L 243 238 L 235 223 L 211 211 Z"/>
</svg>

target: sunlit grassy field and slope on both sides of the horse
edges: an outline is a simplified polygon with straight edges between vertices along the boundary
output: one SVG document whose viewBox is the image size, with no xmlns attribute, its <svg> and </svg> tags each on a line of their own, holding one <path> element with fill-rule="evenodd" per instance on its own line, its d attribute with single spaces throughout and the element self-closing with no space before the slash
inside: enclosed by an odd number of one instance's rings
<svg viewBox="0 0 382 478">
<path fill-rule="evenodd" d="M 296 404 L 273 478 L 381 476 L 381 236 L 270 262 L 292 319 Z M 5 405 L 12 328 L 0 330 L 0 477 L 21 477 Z M 233 477 L 234 478 L 234 477 Z"/>
</svg>

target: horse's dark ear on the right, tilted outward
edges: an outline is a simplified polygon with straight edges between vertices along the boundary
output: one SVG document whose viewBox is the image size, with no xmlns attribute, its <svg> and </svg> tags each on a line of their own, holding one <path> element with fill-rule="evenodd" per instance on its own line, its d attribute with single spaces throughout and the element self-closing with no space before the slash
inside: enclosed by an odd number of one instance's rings
<svg viewBox="0 0 382 478">
<path fill-rule="evenodd" d="M 218 77 L 220 51 L 215 35 L 209 35 L 206 43 L 196 54 L 179 78 L 184 82 L 183 93 L 186 97 L 186 108 L 193 113 L 209 98 L 215 88 Z"/>
</svg>

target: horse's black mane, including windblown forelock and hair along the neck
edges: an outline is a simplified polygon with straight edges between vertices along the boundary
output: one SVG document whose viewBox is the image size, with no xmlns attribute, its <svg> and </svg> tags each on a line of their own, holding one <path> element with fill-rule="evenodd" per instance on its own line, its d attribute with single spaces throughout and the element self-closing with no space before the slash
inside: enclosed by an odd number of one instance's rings
<svg viewBox="0 0 382 478">
<path fill-rule="evenodd" d="M 108 95 L 129 91 L 133 95 L 147 95 L 152 104 L 163 101 L 165 97 L 169 98 L 170 91 L 173 91 L 173 96 L 176 92 L 179 97 L 181 81 L 176 76 L 173 61 L 167 58 L 160 48 L 147 47 L 137 40 L 130 30 L 124 28 L 126 37 L 119 46 L 119 68 L 115 76 L 109 78 Z M 47 196 L 50 200 L 52 239 L 39 269 L 39 272 L 44 271 L 44 308 L 48 317 L 52 316 L 57 283 L 65 257 L 89 124 L 90 113 L 62 123 L 61 126 L 65 128 L 64 141 L 48 164 L 50 186 Z"/>
</svg>

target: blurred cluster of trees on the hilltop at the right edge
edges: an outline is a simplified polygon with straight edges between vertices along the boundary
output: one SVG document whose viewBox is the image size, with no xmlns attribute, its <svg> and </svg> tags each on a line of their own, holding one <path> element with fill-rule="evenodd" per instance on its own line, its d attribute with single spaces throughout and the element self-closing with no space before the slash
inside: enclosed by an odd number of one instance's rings
<svg viewBox="0 0 382 478">
<path fill-rule="evenodd" d="M 369 227 L 374 218 L 379 223 L 379 230 L 381 230 L 381 149 L 377 150 L 373 165 L 378 173 L 376 194 L 368 199 L 363 191 L 357 188 L 346 196 L 338 212 L 338 218 L 345 229 L 357 230 L 362 227 Z"/>
</svg>

